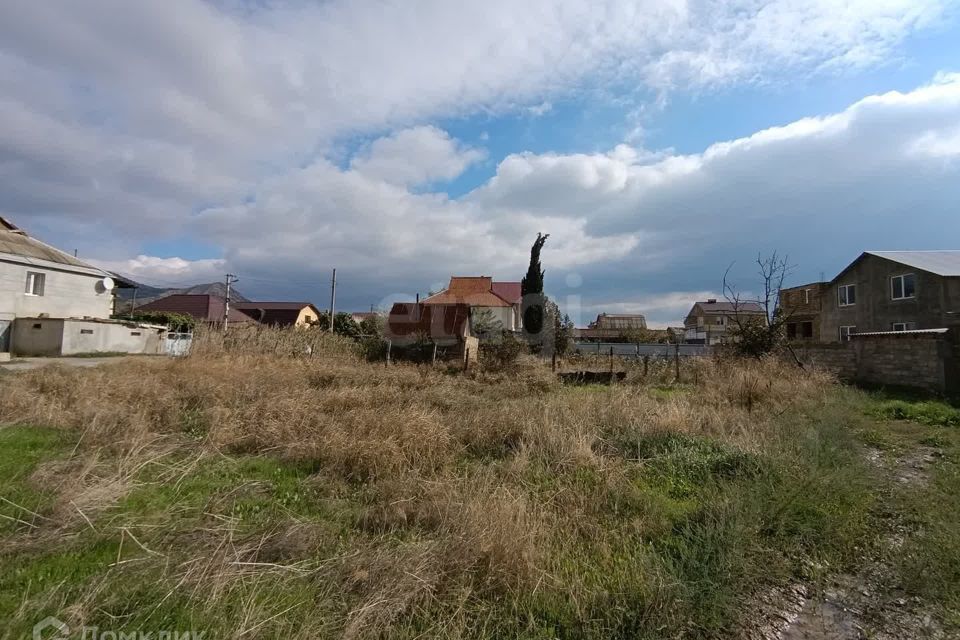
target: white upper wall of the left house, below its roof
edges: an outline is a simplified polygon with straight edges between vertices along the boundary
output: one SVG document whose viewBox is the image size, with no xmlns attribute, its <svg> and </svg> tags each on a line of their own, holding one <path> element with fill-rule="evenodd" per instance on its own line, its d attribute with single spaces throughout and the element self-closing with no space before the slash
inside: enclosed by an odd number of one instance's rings
<svg viewBox="0 0 960 640">
<path fill-rule="evenodd" d="M 45 275 L 42 296 L 25 293 L 28 271 Z M 98 292 L 100 280 L 102 276 L 0 261 L 0 319 L 40 314 L 51 318 L 109 318 L 113 292 Z"/>
</svg>

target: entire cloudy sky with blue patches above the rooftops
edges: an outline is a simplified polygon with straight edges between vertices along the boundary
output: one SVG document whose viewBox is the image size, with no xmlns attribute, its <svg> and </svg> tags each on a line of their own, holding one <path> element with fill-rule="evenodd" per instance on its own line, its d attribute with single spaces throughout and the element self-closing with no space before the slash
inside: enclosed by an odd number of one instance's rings
<svg viewBox="0 0 960 640">
<path fill-rule="evenodd" d="M 10 0 L 0 215 L 154 286 L 682 321 L 960 249 L 957 0 Z M 732 266 L 731 266 L 732 265 Z"/>
</svg>

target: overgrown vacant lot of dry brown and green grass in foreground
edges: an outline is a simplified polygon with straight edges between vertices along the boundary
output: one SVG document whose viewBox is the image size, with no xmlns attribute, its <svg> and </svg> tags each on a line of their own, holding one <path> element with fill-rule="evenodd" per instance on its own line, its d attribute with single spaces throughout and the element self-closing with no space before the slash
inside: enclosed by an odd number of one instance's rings
<svg viewBox="0 0 960 640">
<path fill-rule="evenodd" d="M 775 637 L 777 594 L 880 562 L 870 589 L 956 633 L 956 410 L 775 361 L 691 367 L 562 387 L 532 361 L 462 374 L 331 346 L 0 376 L 0 620 Z M 877 602 L 860 622 L 882 636 Z"/>
</svg>

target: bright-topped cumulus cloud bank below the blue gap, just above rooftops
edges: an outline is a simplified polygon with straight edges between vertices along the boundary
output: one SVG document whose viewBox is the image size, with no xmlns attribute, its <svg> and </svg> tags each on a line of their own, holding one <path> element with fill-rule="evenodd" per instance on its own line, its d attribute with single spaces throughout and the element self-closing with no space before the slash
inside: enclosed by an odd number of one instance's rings
<svg viewBox="0 0 960 640">
<path fill-rule="evenodd" d="M 317 161 L 195 224 L 233 269 L 320 279 L 338 265 L 375 297 L 450 273 L 519 278 L 530 238 L 549 231 L 550 293 L 579 299 L 580 320 L 639 310 L 662 325 L 717 291 L 731 263 L 739 287 L 755 287 L 758 251 L 788 253 L 799 282 L 865 249 L 942 248 L 931 242 L 960 231 L 957 122 L 960 77 L 946 76 L 699 154 L 517 154 L 459 199 Z"/>
</svg>

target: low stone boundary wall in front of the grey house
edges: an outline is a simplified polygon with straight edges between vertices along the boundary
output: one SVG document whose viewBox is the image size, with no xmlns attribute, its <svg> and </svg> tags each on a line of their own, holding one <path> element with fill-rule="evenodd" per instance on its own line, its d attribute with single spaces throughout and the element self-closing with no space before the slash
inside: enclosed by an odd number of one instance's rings
<svg viewBox="0 0 960 640">
<path fill-rule="evenodd" d="M 960 340 L 946 333 L 857 335 L 845 344 L 796 349 L 805 364 L 831 371 L 841 380 L 960 393 Z"/>
</svg>

